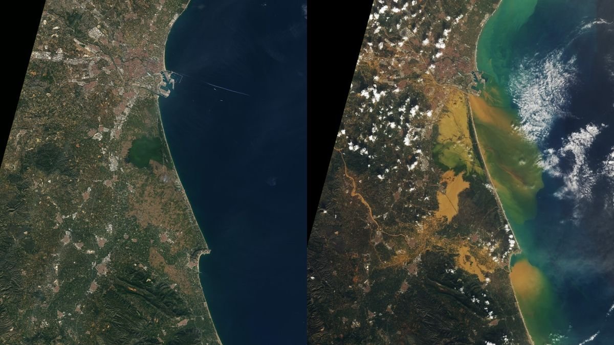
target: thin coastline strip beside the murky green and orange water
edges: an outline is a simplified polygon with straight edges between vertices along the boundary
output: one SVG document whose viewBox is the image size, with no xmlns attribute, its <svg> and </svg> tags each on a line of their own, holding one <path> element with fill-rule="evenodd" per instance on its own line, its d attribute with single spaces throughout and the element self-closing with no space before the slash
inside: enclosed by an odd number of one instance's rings
<svg viewBox="0 0 614 345">
<path fill-rule="evenodd" d="M 495 10 L 492 11 L 492 14 L 489 15 L 489 17 L 486 19 L 486 21 L 484 21 L 484 25 L 482 26 L 482 29 L 480 30 L 480 33 L 478 34 L 478 38 L 475 41 L 475 52 L 474 52 L 474 55 L 473 55 L 473 63 L 474 63 L 474 66 L 475 66 L 475 71 L 479 70 L 478 69 L 478 42 L 480 42 L 480 36 L 482 34 L 484 26 L 486 26 L 486 23 L 488 23 L 488 20 L 490 20 L 492 18 L 492 16 L 495 14 L 495 12 L 497 12 L 497 10 L 499 10 L 499 6 L 501 5 L 501 2 L 503 2 L 503 1 L 505 1 L 505 0 L 500 0 L 499 1 L 499 3 L 497 4 Z M 483 165 L 484 165 L 484 172 L 486 172 L 486 178 L 488 179 L 488 182 L 492 185 L 492 193 L 495 196 L 495 201 L 497 201 L 497 205 L 499 206 L 501 214 L 503 215 L 503 219 L 505 219 L 505 222 L 510 227 L 512 235 L 516 239 L 516 234 L 514 233 L 514 229 L 511 226 L 510 220 L 507 219 L 507 215 L 505 214 L 505 209 L 503 209 L 503 204 L 501 203 L 501 200 L 499 198 L 499 193 L 497 192 L 497 188 L 495 188 L 494 184 L 492 183 L 491 174 L 488 171 L 488 166 L 486 165 L 486 160 L 484 159 L 484 155 L 482 153 L 482 146 L 480 145 L 480 140 L 478 139 L 478 132 L 475 129 L 475 122 L 473 121 L 473 109 L 471 107 L 471 103 L 469 102 L 468 98 L 467 98 L 467 104 L 469 106 L 469 123 L 471 125 L 471 130 L 473 132 L 473 136 L 475 137 L 475 143 L 478 146 L 478 155 L 480 155 L 480 159 L 481 159 L 481 161 L 483 162 Z M 512 255 L 520 254 L 523 251 L 523 249 L 520 247 L 520 243 L 518 241 L 516 241 L 516 246 L 518 246 L 518 249 L 517 250 L 513 250 L 511 252 L 511 255 L 507 259 L 507 268 L 509 270 L 508 271 L 508 276 L 510 276 L 510 274 L 511 274 L 511 257 L 512 257 Z M 533 341 L 533 338 L 531 338 L 531 335 L 529 333 L 529 328 L 527 328 L 527 323 L 526 323 L 526 320 L 524 319 L 523 312 L 520 309 L 520 304 L 518 302 L 518 296 L 516 295 L 516 290 L 514 289 L 514 285 L 511 283 L 511 277 L 510 277 L 510 284 L 511 284 L 511 290 L 514 293 L 514 298 L 516 300 L 516 309 L 518 309 L 518 314 L 520 315 L 520 318 L 523 320 L 524 330 L 526 331 L 527 338 L 529 339 L 529 341 L 530 341 L 530 343 L 532 345 L 535 345 L 535 342 Z"/>
</svg>

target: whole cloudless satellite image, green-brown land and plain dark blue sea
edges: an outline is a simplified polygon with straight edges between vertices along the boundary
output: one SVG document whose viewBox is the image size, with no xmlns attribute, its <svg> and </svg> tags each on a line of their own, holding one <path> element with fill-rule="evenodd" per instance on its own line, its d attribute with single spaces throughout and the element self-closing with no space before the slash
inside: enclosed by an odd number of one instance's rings
<svg viewBox="0 0 614 345">
<path fill-rule="evenodd" d="M 0 168 L 1 344 L 305 342 L 306 13 L 45 2 Z"/>
</svg>

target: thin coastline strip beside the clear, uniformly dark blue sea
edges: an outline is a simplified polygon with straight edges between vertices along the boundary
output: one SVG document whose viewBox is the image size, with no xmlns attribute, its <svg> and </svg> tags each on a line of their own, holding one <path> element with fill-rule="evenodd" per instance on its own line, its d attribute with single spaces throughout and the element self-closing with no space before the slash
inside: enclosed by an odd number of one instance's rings
<svg viewBox="0 0 614 345">
<path fill-rule="evenodd" d="M 176 18 L 176 20 L 173 21 L 173 25 L 171 25 L 171 27 L 168 30 L 168 34 L 166 35 L 166 41 L 164 41 L 164 48 L 162 50 L 162 66 L 163 66 L 165 71 L 166 71 L 166 42 L 168 42 L 168 36 L 170 36 L 171 31 L 173 31 L 173 26 L 177 23 L 177 20 L 179 20 L 179 18 L 181 18 L 181 15 L 183 15 L 185 10 L 187 10 L 188 6 L 190 6 L 190 2 L 192 2 L 192 0 L 188 0 L 188 2 L 185 4 L 184 10 L 182 10 L 182 12 Z M 179 188 L 179 190 L 181 190 L 181 194 L 183 195 L 185 204 L 187 204 L 187 207 L 190 210 L 190 222 L 193 223 L 195 228 L 200 233 L 200 236 L 201 236 L 201 238 L 203 239 L 203 242 L 204 242 L 204 246 L 206 247 L 206 250 L 208 250 L 207 252 L 204 252 L 204 251 L 201 250 L 197 254 L 198 255 L 198 259 L 197 259 L 198 262 L 196 263 L 196 269 L 198 269 L 198 273 L 200 274 L 200 258 L 203 255 L 209 254 L 209 252 L 211 252 L 211 250 L 209 249 L 207 241 L 204 238 L 203 231 L 201 230 L 200 225 L 198 225 L 198 221 L 196 221 L 196 216 L 194 215 L 194 211 L 192 209 L 192 204 L 190 204 L 190 200 L 188 200 L 188 197 L 185 194 L 184 185 L 181 183 L 181 178 L 179 178 L 179 172 L 177 171 L 175 162 L 173 161 L 173 155 L 171 154 L 171 149 L 170 149 L 170 147 L 168 145 L 168 141 L 166 140 L 166 134 L 165 134 L 165 131 L 164 131 L 164 123 L 162 121 L 162 112 L 160 111 L 160 95 L 156 95 L 156 109 L 158 110 L 158 120 L 160 121 L 160 135 L 161 135 L 161 138 L 164 141 L 164 145 L 165 145 L 166 152 L 168 153 L 168 157 L 170 158 L 171 163 L 173 163 L 173 171 L 175 172 L 175 177 L 177 178 L 176 185 Z M 217 334 L 216 323 L 213 320 L 213 317 L 211 317 L 211 311 L 209 310 L 209 306 L 208 306 L 208 303 L 207 303 L 207 298 L 204 296 L 203 284 L 201 284 L 201 282 L 200 282 L 200 276 L 197 276 L 196 280 L 198 280 L 198 286 L 200 286 L 200 291 L 203 294 L 203 300 L 204 300 L 204 303 L 205 303 L 205 308 L 207 309 L 207 314 L 209 316 L 209 319 L 211 319 L 211 324 L 213 325 L 213 329 L 214 329 L 214 333 L 216 335 L 217 342 L 219 344 L 222 344 L 222 340 L 220 339 L 219 334 Z"/>
</svg>

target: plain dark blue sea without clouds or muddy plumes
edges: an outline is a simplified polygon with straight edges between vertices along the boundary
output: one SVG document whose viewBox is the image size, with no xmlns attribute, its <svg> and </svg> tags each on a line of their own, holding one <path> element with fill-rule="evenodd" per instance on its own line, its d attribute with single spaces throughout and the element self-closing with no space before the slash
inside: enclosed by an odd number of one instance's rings
<svg viewBox="0 0 614 345">
<path fill-rule="evenodd" d="M 304 6 L 192 0 L 166 44 L 182 77 L 160 111 L 225 345 L 306 339 Z"/>
</svg>

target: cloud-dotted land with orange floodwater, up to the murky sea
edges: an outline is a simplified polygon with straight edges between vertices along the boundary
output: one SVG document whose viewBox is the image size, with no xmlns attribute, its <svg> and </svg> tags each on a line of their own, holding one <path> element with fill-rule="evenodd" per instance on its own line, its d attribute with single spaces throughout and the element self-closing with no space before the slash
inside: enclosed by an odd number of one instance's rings
<svg viewBox="0 0 614 345">
<path fill-rule="evenodd" d="M 374 2 L 309 239 L 308 343 L 529 343 L 468 104 L 497 3 Z"/>
</svg>

